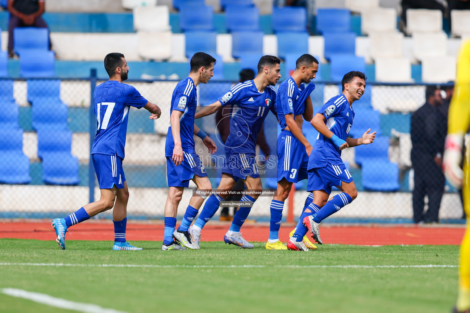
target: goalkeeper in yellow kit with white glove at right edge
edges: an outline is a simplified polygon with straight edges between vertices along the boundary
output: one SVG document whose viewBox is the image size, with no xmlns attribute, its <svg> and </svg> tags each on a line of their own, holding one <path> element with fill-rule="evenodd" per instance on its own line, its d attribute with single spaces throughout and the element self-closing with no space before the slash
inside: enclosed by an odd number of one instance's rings
<svg viewBox="0 0 470 313">
<path fill-rule="evenodd" d="M 446 179 L 462 188 L 463 209 L 467 214 L 467 229 L 460 247 L 459 294 L 455 313 L 470 313 L 470 149 L 465 151 L 463 171 L 463 137 L 470 126 L 470 40 L 462 44 L 457 60 L 454 96 L 449 107 L 449 125 L 444 151 L 443 169 Z"/>
</svg>

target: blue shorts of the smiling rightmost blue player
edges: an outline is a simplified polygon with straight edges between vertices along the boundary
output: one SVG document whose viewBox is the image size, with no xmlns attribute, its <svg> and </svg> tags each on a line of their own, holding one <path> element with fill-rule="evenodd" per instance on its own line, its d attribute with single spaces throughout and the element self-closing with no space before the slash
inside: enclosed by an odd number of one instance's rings
<svg viewBox="0 0 470 313">
<path fill-rule="evenodd" d="M 308 170 L 307 191 L 324 190 L 331 193 L 331 187 L 341 186 L 341 182 L 352 182 L 352 176 L 346 166 L 328 163 L 324 168 Z"/>
</svg>

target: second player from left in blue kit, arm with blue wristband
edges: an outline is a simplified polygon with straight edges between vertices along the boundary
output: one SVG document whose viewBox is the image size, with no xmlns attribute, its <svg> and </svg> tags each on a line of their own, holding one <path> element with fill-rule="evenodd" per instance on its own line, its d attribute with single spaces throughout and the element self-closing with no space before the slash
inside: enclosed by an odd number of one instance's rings
<svg viewBox="0 0 470 313">
<path fill-rule="evenodd" d="M 205 192 L 211 192 L 212 186 L 194 149 L 194 135 L 203 140 L 209 153 L 215 153 L 217 146 L 194 124 L 197 106 L 196 87 L 199 83 L 206 84 L 214 76 L 215 62 L 216 60 L 207 53 L 195 53 L 190 61 L 191 69 L 188 77 L 180 81 L 173 91 L 170 126 L 165 144 L 166 175 L 170 188 L 165 203 L 162 244 L 164 251 L 199 249 L 199 244 L 197 242 L 193 244 L 191 241 L 188 228 L 206 198 Z M 202 192 L 193 194 L 180 227 L 175 230 L 178 206 L 184 188 L 188 188 L 190 180 L 196 183 L 198 191 Z"/>
</svg>

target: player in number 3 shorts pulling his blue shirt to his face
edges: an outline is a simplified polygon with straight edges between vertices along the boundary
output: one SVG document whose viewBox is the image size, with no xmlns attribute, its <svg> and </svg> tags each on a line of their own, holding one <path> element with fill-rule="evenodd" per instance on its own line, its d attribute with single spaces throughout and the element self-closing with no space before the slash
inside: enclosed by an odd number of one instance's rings
<svg viewBox="0 0 470 313">
<path fill-rule="evenodd" d="M 310 122 L 313 117 L 312 93 L 315 85 L 305 84 L 316 77 L 318 60 L 310 54 L 303 54 L 296 61 L 292 76 L 283 81 L 277 90 L 276 107 L 281 133 L 277 138 L 277 196 L 271 201 L 271 220 L 266 249 L 287 250 L 279 240 L 282 209 L 289 197 L 292 183 L 307 179 L 308 156 L 312 145 L 302 134 L 302 123 Z M 302 118 L 303 117 L 303 118 Z M 304 243 L 310 249 L 316 246 L 305 236 Z"/>
</svg>

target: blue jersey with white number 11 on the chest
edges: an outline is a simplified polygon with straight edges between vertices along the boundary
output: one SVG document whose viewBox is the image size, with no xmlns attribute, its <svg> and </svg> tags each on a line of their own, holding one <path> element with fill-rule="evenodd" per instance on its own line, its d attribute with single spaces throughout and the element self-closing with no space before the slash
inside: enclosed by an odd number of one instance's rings
<svg viewBox="0 0 470 313">
<path fill-rule="evenodd" d="M 233 86 L 219 101 L 222 106 L 236 105 L 230 119 L 230 134 L 225 141 L 227 149 L 233 153 L 255 153 L 256 138 L 269 111 L 276 114 L 276 90 L 266 86 L 264 92 L 258 92 L 255 83 L 247 80 Z"/>
</svg>

